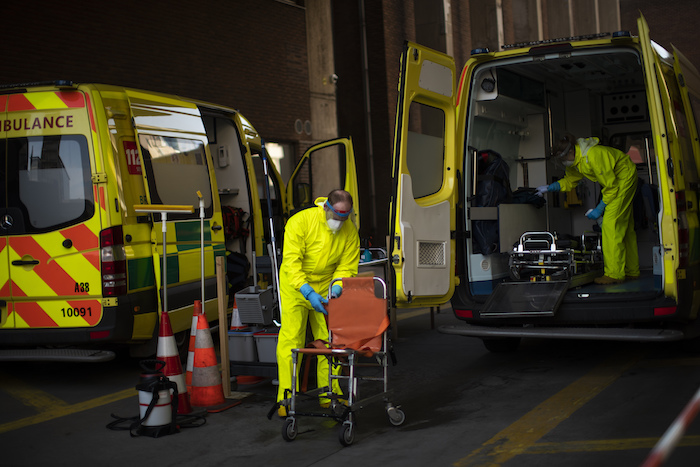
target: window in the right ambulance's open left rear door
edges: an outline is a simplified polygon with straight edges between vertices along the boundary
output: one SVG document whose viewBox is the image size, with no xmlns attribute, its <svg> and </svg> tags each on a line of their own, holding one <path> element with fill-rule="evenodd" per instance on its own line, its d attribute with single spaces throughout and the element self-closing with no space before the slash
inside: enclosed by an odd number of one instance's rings
<svg viewBox="0 0 700 467">
<path fill-rule="evenodd" d="M 406 148 L 413 197 L 437 193 L 442 186 L 445 160 L 445 114 L 442 110 L 411 103 Z"/>
</svg>

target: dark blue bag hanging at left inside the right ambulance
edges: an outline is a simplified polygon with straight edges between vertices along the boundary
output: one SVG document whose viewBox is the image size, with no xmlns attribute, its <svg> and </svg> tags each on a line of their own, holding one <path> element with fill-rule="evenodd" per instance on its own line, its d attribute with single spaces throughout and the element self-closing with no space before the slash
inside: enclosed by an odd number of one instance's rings
<svg viewBox="0 0 700 467">
<path fill-rule="evenodd" d="M 510 202 L 510 168 L 496 151 L 484 149 L 477 152 L 476 196 L 473 207 L 494 207 Z M 490 255 L 498 252 L 498 221 L 472 221 L 473 253 Z"/>
</svg>

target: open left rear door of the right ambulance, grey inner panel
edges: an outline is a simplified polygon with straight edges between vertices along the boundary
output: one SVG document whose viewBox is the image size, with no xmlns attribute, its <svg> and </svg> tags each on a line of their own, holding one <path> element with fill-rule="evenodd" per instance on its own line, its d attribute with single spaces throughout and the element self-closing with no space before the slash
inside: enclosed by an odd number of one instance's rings
<svg viewBox="0 0 700 467">
<path fill-rule="evenodd" d="M 407 42 L 394 137 L 391 261 L 397 307 L 433 306 L 454 291 L 454 60 Z"/>
</svg>

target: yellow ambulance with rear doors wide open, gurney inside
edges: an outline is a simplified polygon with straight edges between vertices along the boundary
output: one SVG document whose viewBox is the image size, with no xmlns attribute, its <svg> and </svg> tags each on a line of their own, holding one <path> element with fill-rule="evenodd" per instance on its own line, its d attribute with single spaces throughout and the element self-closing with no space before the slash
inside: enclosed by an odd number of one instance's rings
<svg viewBox="0 0 700 467">
<path fill-rule="evenodd" d="M 398 307 L 451 301 L 493 351 L 523 337 L 665 341 L 698 334 L 700 74 L 628 32 L 401 57 L 390 255 Z M 561 179 L 565 132 L 598 138 L 637 170 L 641 275 L 598 285 L 600 186 L 537 196 Z M 603 223 L 605 216 L 603 216 Z"/>
</svg>

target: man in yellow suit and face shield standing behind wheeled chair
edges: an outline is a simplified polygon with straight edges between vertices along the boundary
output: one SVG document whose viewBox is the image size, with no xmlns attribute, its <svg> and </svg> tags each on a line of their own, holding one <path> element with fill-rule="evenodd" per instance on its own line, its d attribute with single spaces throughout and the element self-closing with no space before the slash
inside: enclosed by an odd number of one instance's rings
<svg viewBox="0 0 700 467">
<path fill-rule="evenodd" d="M 285 399 L 285 390 L 292 389 L 292 349 L 306 344 L 307 320 L 314 339 L 328 339 L 324 316 L 328 287 L 333 279 L 356 276 L 360 262 L 360 238 L 352 221 L 347 222 L 353 206 L 350 193 L 334 190 L 328 198 L 317 198 L 315 204 L 316 207 L 293 215 L 284 230 L 279 281 L 282 327 L 277 341 L 278 402 Z M 340 284 L 334 284 L 332 296 L 341 293 Z M 319 386 L 328 382 L 328 365 L 323 363 L 319 361 L 317 365 Z M 330 400 L 322 398 L 320 402 L 325 405 Z M 278 414 L 286 416 L 286 407 L 280 406 Z"/>
</svg>

